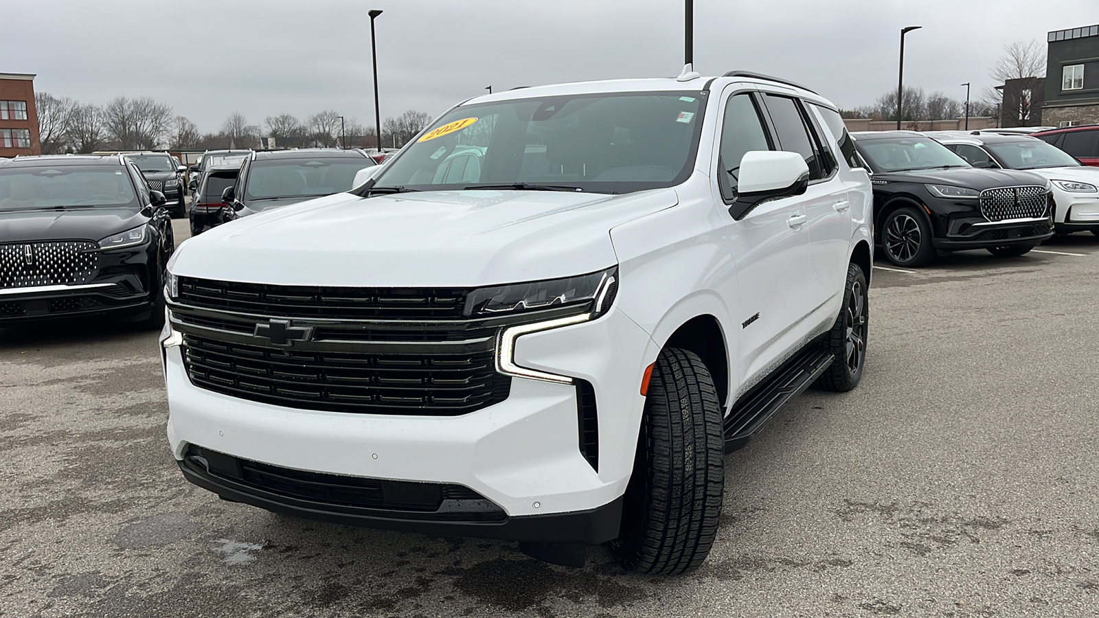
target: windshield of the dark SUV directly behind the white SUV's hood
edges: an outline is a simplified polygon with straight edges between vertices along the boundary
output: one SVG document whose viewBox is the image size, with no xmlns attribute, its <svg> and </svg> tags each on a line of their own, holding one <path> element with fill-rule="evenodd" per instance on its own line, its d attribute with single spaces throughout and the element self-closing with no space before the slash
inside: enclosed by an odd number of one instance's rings
<svg viewBox="0 0 1099 618">
<path fill-rule="evenodd" d="M 254 161 L 244 199 L 310 198 L 349 191 L 355 174 L 375 165 L 365 156 Z"/>
</svg>

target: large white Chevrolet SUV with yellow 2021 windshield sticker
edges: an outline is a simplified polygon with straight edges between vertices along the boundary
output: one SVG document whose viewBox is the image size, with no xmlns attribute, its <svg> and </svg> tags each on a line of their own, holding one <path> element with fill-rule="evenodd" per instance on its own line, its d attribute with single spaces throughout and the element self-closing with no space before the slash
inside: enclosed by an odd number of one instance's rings
<svg viewBox="0 0 1099 618">
<path fill-rule="evenodd" d="M 743 71 L 465 101 L 354 191 L 180 246 L 173 454 L 269 510 L 695 569 L 723 454 L 862 375 L 853 158 L 832 103 Z"/>
</svg>

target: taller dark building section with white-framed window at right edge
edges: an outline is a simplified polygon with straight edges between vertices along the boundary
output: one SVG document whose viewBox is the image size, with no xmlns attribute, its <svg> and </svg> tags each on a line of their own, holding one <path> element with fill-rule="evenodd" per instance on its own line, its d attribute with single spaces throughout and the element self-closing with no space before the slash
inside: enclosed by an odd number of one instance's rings
<svg viewBox="0 0 1099 618">
<path fill-rule="evenodd" d="M 1099 24 L 1055 30 L 1046 41 L 1043 124 L 1099 124 Z"/>
</svg>

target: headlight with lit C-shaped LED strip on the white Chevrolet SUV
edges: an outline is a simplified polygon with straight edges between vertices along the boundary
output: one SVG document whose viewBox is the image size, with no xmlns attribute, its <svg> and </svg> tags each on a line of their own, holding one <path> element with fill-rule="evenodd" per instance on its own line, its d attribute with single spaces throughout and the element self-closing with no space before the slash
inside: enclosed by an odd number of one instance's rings
<svg viewBox="0 0 1099 618">
<path fill-rule="evenodd" d="M 496 371 L 502 374 L 571 384 L 573 378 L 569 376 L 523 367 L 515 363 L 515 340 L 520 335 L 593 320 L 610 309 L 617 293 L 618 267 L 615 266 L 578 277 L 479 288 L 467 297 L 466 314 L 488 317 L 555 307 L 575 307 L 576 313 L 570 316 L 503 329 L 500 331 L 496 353 Z"/>
</svg>

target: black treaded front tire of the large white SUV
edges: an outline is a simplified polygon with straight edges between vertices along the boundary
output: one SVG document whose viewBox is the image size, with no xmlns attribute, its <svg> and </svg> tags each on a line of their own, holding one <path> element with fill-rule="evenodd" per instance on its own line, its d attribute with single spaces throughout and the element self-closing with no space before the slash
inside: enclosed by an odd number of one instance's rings
<svg viewBox="0 0 1099 618">
<path fill-rule="evenodd" d="M 724 493 L 722 410 L 713 379 L 693 352 L 667 347 L 656 360 L 611 542 L 626 570 L 679 574 L 710 553 Z"/>
</svg>

